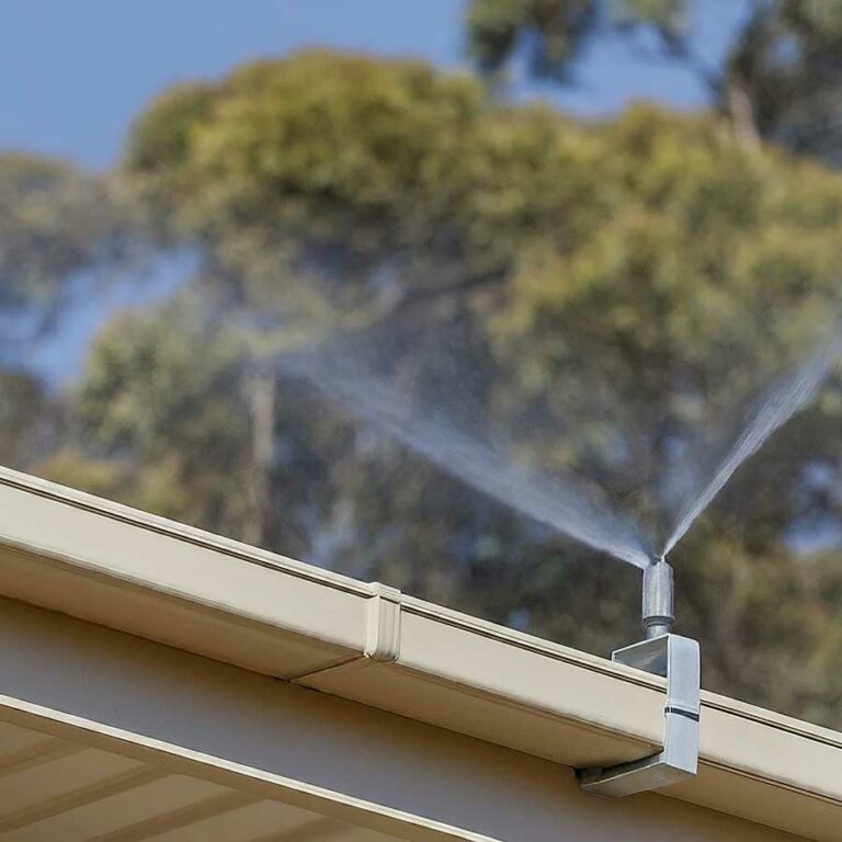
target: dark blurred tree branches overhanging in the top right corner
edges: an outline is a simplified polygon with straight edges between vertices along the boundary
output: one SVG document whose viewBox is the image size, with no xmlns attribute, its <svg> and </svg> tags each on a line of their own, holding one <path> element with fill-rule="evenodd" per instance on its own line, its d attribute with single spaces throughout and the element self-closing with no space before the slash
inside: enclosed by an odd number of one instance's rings
<svg viewBox="0 0 842 842">
<path fill-rule="evenodd" d="M 471 0 L 469 49 L 498 73 L 524 55 L 539 79 L 569 82 L 596 38 L 619 34 L 647 58 L 678 62 L 707 87 L 743 143 L 773 139 L 842 160 L 842 2 L 753 0 L 721 66 L 696 49 L 691 0 Z"/>
</svg>

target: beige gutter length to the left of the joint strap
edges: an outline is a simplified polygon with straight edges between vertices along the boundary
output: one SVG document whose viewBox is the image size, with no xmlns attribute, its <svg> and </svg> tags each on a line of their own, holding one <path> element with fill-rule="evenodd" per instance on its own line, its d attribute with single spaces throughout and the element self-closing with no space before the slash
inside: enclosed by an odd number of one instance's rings
<svg viewBox="0 0 842 842">
<path fill-rule="evenodd" d="M 0 593 L 287 678 L 364 651 L 373 590 L 0 469 Z"/>
</svg>

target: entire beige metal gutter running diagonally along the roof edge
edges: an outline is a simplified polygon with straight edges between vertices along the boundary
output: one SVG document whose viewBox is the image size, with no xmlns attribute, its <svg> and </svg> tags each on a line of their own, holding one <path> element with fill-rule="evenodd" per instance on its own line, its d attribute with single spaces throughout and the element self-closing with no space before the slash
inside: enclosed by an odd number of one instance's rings
<svg viewBox="0 0 842 842">
<path fill-rule="evenodd" d="M 566 766 L 661 737 L 660 679 L 5 469 L 0 595 Z M 705 693 L 701 740 L 665 795 L 842 839 L 842 735 Z"/>
</svg>

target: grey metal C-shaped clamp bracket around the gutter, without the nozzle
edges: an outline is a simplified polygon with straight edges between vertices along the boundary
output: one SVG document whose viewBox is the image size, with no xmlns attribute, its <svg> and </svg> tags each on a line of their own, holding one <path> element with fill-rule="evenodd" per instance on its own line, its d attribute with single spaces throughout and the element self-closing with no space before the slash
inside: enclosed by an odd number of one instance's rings
<svg viewBox="0 0 842 842">
<path fill-rule="evenodd" d="M 680 635 L 659 635 L 617 649 L 611 659 L 665 676 L 663 749 L 629 763 L 577 770 L 582 792 L 605 798 L 622 798 L 659 789 L 695 775 L 701 709 L 698 644 Z"/>
</svg>

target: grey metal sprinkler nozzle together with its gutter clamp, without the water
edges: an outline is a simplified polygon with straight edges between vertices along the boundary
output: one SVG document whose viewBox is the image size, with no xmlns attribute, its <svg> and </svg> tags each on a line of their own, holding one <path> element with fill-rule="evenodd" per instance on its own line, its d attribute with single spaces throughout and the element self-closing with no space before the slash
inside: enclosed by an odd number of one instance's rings
<svg viewBox="0 0 842 842">
<path fill-rule="evenodd" d="M 672 568 L 663 558 L 655 558 L 644 570 L 642 625 L 646 640 L 617 649 L 611 659 L 615 663 L 667 679 L 663 748 L 630 763 L 577 770 L 582 792 L 605 798 L 622 798 L 660 789 L 696 774 L 701 710 L 698 644 L 672 634 L 674 622 Z"/>
</svg>

